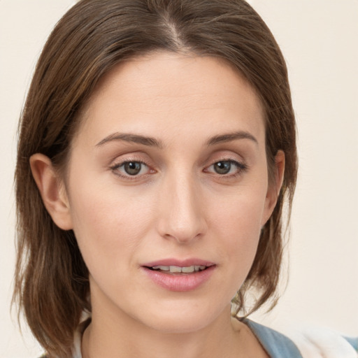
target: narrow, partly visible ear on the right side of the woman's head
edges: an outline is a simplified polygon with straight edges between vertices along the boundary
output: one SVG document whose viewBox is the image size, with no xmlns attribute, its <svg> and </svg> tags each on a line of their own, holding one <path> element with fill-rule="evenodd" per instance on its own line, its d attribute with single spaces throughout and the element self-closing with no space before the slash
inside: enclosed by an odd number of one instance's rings
<svg viewBox="0 0 358 358">
<path fill-rule="evenodd" d="M 262 226 L 270 218 L 282 187 L 285 173 L 285 153 L 282 150 L 278 150 L 275 155 L 275 168 L 273 170 L 274 178 L 272 182 L 268 183 Z"/>
</svg>

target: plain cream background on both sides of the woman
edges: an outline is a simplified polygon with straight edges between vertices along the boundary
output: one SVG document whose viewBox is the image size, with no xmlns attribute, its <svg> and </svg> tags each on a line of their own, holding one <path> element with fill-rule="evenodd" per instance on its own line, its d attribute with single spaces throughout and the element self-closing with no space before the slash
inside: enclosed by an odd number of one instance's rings
<svg viewBox="0 0 358 358">
<path fill-rule="evenodd" d="M 41 349 L 10 315 L 17 119 L 45 39 L 70 0 L 0 0 L 0 357 Z M 255 319 L 358 335 L 358 1 L 252 0 L 282 48 L 299 132 L 289 283 Z"/>
</svg>

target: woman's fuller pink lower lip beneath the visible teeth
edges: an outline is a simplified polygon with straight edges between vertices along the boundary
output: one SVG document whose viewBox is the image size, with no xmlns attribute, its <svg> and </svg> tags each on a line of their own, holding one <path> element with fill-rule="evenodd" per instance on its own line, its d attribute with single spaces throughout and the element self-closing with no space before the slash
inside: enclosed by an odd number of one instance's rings
<svg viewBox="0 0 358 358">
<path fill-rule="evenodd" d="M 169 291 L 176 292 L 192 291 L 193 289 L 200 287 L 209 280 L 215 270 L 215 267 L 216 266 L 213 265 L 203 271 L 171 275 L 170 273 L 163 273 L 161 271 L 151 270 L 148 267 L 142 266 L 145 273 L 152 279 L 153 282 L 165 289 L 169 289 Z"/>
</svg>

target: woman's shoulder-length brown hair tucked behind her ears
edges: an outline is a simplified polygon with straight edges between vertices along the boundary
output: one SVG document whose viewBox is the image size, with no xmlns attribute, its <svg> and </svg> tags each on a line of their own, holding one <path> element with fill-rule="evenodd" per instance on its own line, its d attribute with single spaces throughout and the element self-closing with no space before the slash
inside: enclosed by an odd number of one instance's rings
<svg viewBox="0 0 358 358">
<path fill-rule="evenodd" d="M 14 299 L 49 355 L 70 355 L 80 315 L 91 310 L 90 287 L 73 231 L 52 222 L 31 176 L 29 157 L 41 152 L 64 168 L 80 110 L 99 79 L 124 59 L 156 50 L 225 59 L 262 101 L 268 168 L 283 150 L 285 178 L 262 229 L 255 262 L 233 301 L 244 312 L 250 287 L 259 292 L 253 310 L 275 294 L 282 206 L 285 200 L 291 208 L 297 164 L 287 69 L 271 31 L 243 0 L 82 0 L 59 21 L 38 60 L 20 122 L 15 173 Z"/>
</svg>

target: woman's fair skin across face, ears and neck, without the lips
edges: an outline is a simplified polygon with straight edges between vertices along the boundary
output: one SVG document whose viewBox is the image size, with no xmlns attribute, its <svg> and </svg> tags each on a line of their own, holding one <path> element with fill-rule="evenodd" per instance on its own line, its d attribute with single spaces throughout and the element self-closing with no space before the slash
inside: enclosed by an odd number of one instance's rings
<svg viewBox="0 0 358 358">
<path fill-rule="evenodd" d="M 130 176 L 125 162 L 142 162 L 141 171 Z M 217 173 L 218 162 L 229 172 Z M 268 357 L 231 322 L 230 302 L 283 168 L 279 151 L 268 185 L 262 106 L 222 60 L 159 52 L 108 73 L 83 112 L 66 178 L 47 157 L 31 157 L 46 208 L 73 229 L 90 271 L 83 357 Z M 173 257 L 215 268 L 196 289 L 172 292 L 141 266 Z"/>
</svg>

